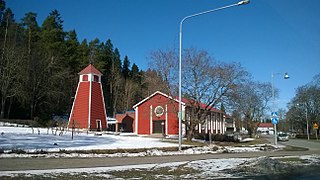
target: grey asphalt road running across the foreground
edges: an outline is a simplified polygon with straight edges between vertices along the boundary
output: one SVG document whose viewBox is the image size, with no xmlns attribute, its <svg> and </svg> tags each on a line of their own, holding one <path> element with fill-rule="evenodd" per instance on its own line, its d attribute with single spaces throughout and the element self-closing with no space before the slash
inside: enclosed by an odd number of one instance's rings
<svg viewBox="0 0 320 180">
<path fill-rule="evenodd" d="M 310 151 L 277 151 L 277 152 L 250 152 L 250 153 L 219 153 L 201 155 L 178 155 L 178 156 L 153 156 L 153 157 L 122 157 L 122 158 L 1 158 L 1 171 L 17 170 L 43 170 L 65 168 L 90 168 L 112 167 L 136 164 L 169 163 L 181 161 L 195 161 L 217 158 L 251 158 L 260 156 L 299 156 L 308 154 L 320 154 L 320 150 Z"/>
</svg>

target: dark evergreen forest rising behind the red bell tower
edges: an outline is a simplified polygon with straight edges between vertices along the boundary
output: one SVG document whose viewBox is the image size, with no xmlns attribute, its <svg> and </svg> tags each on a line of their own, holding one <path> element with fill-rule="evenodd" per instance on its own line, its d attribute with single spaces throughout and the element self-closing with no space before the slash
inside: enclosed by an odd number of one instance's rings
<svg viewBox="0 0 320 180">
<path fill-rule="evenodd" d="M 76 30 L 64 31 L 57 10 L 41 26 L 33 12 L 16 23 L 4 1 L 0 1 L 0 14 L 0 118 L 50 119 L 68 114 L 78 73 L 90 63 L 103 74 L 108 116 L 130 110 L 144 98 L 142 92 L 150 86 L 144 83 L 145 72 L 136 64 L 131 66 L 128 56 L 121 59 L 110 39 L 80 43 Z"/>
</svg>

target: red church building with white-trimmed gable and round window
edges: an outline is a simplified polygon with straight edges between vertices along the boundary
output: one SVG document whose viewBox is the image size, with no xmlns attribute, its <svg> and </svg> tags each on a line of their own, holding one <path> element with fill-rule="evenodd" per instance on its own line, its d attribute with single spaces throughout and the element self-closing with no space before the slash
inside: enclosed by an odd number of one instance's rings
<svg viewBox="0 0 320 180">
<path fill-rule="evenodd" d="M 201 103 L 201 107 L 206 105 Z M 189 113 L 191 106 L 185 99 L 182 100 L 182 112 L 185 113 L 182 117 L 190 121 Z M 135 110 L 133 132 L 139 135 L 152 135 L 163 133 L 166 136 L 178 135 L 179 133 L 179 118 L 178 109 L 179 101 L 162 92 L 155 92 L 145 98 L 138 104 L 133 106 Z M 206 120 L 203 124 L 198 124 L 195 127 L 195 133 L 212 133 L 223 134 L 226 132 L 226 114 L 218 109 L 210 108 L 204 111 Z M 230 127 L 229 127 L 230 128 Z M 232 129 L 234 130 L 234 128 Z M 185 125 L 182 124 L 182 134 L 186 134 Z"/>
</svg>

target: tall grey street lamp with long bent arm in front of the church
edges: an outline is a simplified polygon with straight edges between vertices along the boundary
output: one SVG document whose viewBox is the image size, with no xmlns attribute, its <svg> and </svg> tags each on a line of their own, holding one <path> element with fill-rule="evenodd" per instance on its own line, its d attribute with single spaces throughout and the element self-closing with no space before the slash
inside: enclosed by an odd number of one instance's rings
<svg viewBox="0 0 320 180">
<path fill-rule="evenodd" d="M 183 22 L 187 19 L 190 19 L 192 17 L 196 17 L 196 16 L 200 16 L 200 15 L 204 15 L 204 14 L 208 14 L 208 13 L 212 13 L 215 11 L 219 11 L 219 10 L 223 10 L 223 9 L 227 9 L 227 8 L 231 8 L 233 6 L 240 6 L 240 5 L 245 5 L 245 4 L 249 4 L 250 0 L 243 0 L 240 1 L 238 3 L 235 4 L 231 4 L 228 6 L 223 6 L 220 8 L 216 8 L 216 9 L 211 9 L 208 11 L 203 11 L 203 12 L 199 12 L 196 14 L 192 14 L 189 16 L 184 17 L 181 22 L 180 22 L 180 33 L 179 33 L 179 113 L 178 113 L 178 117 L 179 117 L 179 151 L 181 151 L 181 140 L 182 140 L 182 130 L 181 130 L 181 126 L 182 126 L 182 102 L 181 102 L 181 65 L 182 65 L 182 27 L 183 27 Z"/>
</svg>

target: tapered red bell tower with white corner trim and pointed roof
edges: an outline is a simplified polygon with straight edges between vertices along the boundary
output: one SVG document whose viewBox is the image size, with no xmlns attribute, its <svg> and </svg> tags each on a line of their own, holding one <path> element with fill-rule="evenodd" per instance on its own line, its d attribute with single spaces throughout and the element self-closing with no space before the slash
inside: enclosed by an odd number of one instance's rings
<svg viewBox="0 0 320 180">
<path fill-rule="evenodd" d="M 101 85 L 102 74 L 90 64 L 79 75 L 68 128 L 106 130 L 107 116 Z"/>
</svg>

